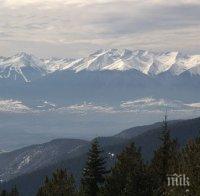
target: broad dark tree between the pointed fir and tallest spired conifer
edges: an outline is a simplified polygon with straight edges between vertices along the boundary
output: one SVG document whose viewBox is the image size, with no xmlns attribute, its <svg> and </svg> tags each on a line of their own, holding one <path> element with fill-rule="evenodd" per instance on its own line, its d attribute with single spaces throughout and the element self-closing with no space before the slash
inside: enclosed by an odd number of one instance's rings
<svg viewBox="0 0 200 196">
<path fill-rule="evenodd" d="M 149 183 L 147 168 L 143 163 L 140 149 L 137 149 L 133 143 L 118 156 L 101 194 L 104 196 L 150 196 Z"/>
</svg>

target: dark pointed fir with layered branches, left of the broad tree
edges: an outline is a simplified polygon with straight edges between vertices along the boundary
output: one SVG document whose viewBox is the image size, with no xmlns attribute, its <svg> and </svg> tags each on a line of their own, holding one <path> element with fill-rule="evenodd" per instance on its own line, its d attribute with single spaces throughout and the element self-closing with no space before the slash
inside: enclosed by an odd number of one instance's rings
<svg viewBox="0 0 200 196">
<path fill-rule="evenodd" d="M 108 172 L 105 168 L 105 158 L 102 157 L 101 150 L 97 139 L 91 145 L 88 153 L 86 166 L 83 169 L 83 176 L 81 179 L 81 195 L 96 196 L 99 188 L 105 181 L 105 174 Z"/>
</svg>

